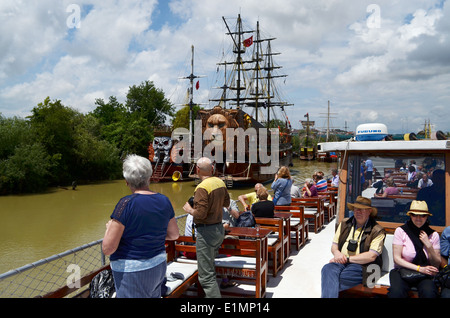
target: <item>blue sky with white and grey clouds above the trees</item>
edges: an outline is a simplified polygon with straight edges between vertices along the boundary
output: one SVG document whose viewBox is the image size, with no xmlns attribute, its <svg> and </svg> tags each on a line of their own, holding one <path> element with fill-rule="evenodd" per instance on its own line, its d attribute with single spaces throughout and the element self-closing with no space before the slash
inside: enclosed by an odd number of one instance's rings
<svg viewBox="0 0 450 318">
<path fill-rule="evenodd" d="M 450 131 L 448 0 L 2 0 L 0 113 L 26 117 L 47 96 L 88 113 L 146 80 L 179 108 L 192 45 L 194 100 L 207 104 L 229 41 L 222 17 L 238 14 L 276 38 L 293 128 L 306 113 L 325 128 L 330 101 L 330 128 Z"/>
</svg>

